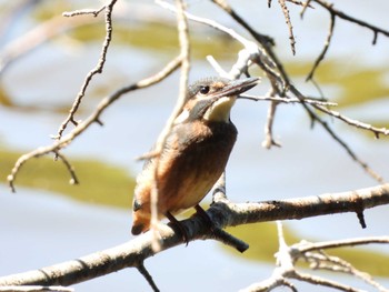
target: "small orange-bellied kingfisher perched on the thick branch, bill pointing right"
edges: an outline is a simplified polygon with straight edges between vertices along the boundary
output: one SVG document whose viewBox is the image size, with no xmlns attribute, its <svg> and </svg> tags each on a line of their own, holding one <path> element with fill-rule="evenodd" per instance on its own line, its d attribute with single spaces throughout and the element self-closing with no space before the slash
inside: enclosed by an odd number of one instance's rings
<svg viewBox="0 0 389 292">
<path fill-rule="evenodd" d="M 258 78 L 200 79 L 189 85 L 181 112 L 167 135 L 159 159 L 150 158 L 137 177 L 132 203 L 131 233 L 150 229 L 151 190 L 158 188 L 158 218 L 178 224 L 174 215 L 190 208 L 199 212 L 200 201 L 223 173 L 237 140 L 230 111 L 238 95 L 259 82 Z M 202 210 L 203 211 L 203 210 Z M 203 214 L 207 214 L 203 211 Z"/>
</svg>

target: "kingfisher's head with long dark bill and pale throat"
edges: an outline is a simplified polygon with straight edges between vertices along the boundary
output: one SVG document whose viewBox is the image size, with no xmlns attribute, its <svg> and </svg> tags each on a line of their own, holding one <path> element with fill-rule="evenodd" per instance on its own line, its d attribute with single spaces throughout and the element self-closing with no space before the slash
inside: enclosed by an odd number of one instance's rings
<svg viewBox="0 0 389 292">
<path fill-rule="evenodd" d="M 257 85 L 258 82 L 258 78 L 201 79 L 189 87 L 186 103 L 182 112 L 176 118 L 176 123 L 194 120 L 229 122 L 230 110 L 237 97 Z"/>
</svg>

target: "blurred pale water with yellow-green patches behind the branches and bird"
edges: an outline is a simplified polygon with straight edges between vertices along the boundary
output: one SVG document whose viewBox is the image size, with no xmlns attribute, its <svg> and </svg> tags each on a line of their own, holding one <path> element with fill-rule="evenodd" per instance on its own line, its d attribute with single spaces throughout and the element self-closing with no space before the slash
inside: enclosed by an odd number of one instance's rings
<svg viewBox="0 0 389 292">
<path fill-rule="evenodd" d="M 18 4 L 30 2 L 22 9 Z M 86 74 L 100 56 L 104 37 L 100 16 L 62 18 L 63 11 L 98 8 L 96 1 L 0 1 L 0 64 L 9 46 L 52 18 L 63 28 L 27 54 L 14 59 L 0 73 L 0 275 L 34 270 L 103 250 L 132 239 L 131 199 L 133 178 L 142 164 L 136 157 L 147 152 L 169 117 L 178 94 L 179 74 L 152 88 L 123 95 L 101 117 L 103 127 L 88 129 L 64 151 L 80 179 L 69 184 L 69 173 L 52 157 L 33 159 L 22 168 L 12 194 L 6 178 L 18 157 L 52 143 L 67 117 Z M 289 6 L 297 40 L 297 54 L 289 46 L 288 28 L 277 1 L 230 1 L 259 32 L 276 39 L 276 51 L 293 83 L 305 93 L 320 97 L 305 79 L 328 34 L 329 13 L 319 7 Z M 337 1 L 350 16 L 389 30 L 389 4 L 385 0 Z M 248 36 L 210 1 L 188 1 L 198 16 L 211 17 Z M 152 1 L 118 1 L 113 40 L 102 74 L 93 78 L 77 119 L 86 119 L 107 94 L 158 72 L 178 54 L 174 16 Z M 58 22 L 57 22 L 58 23 Z M 76 26 L 76 24 L 74 24 Z M 216 74 L 206 61 L 213 56 L 229 70 L 241 49 L 225 34 L 190 23 L 192 68 L 190 80 Z M 338 102 L 338 111 L 371 123 L 389 127 L 389 38 L 337 19 L 332 43 L 316 74 L 326 98 Z M 252 71 L 261 75 L 260 71 Z M 265 81 L 252 93 L 263 95 Z M 268 102 L 239 101 L 231 119 L 239 130 L 238 142 L 227 169 L 227 190 L 232 201 L 260 201 L 340 192 L 378 184 L 317 124 L 311 129 L 298 104 L 278 108 L 275 137 L 281 148 L 265 150 L 263 125 Z M 357 155 L 375 171 L 389 178 L 388 139 L 353 129 L 335 119 L 328 122 Z M 71 130 L 69 125 L 68 130 Z M 208 205 L 210 198 L 206 200 Z M 365 212 L 362 230 L 353 213 L 285 222 L 289 243 L 299 240 L 337 240 L 388 234 L 388 207 Z M 237 291 L 267 279 L 275 268 L 275 223 L 231 229 L 250 243 L 239 254 L 211 241 L 191 242 L 187 248 L 160 253 L 146 262 L 161 291 Z M 368 246 L 339 253 L 357 268 L 371 272 L 389 286 L 388 246 Z M 368 289 L 353 279 L 329 273 L 323 276 Z M 311 286 L 298 283 L 301 291 Z M 120 271 L 74 286 L 76 291 L 148 291 L 136 269 Z M 319 291 L 315 288 L 315 291 Z"/>
</svg>

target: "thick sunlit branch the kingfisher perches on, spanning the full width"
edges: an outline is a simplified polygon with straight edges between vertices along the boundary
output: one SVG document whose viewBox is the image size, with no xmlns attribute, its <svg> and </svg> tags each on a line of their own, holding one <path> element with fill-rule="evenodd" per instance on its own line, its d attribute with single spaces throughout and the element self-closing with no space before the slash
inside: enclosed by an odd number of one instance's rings
<svg viewBox="0 0 389 292">
<path fill-rule="evenodd" d="M 327 193 L 298 199 L 258 203 L 231 203 L 222 195 L 216 195 L 207 213 L 219 228 L 273 220 L 303 219 L 316 215 L 362 212 L 365 209 L 389 203 L 389 184 L 350 192 Z M 188 239 L 207 240 L 217 236 L 201 217 L 181 221 Z M 160 228 L 161 250 L 182 243 L 180 234 L 169 226 Z M 124 268 L 137 268 L 156 254 L 151 248 L 152 234 L 144 233 L 124 244 L 92 253 L 77 260 L 42 268 L 36 271 L 0 278 L 3 285 L 70 285 L 101 276 Z"/>
</svg>

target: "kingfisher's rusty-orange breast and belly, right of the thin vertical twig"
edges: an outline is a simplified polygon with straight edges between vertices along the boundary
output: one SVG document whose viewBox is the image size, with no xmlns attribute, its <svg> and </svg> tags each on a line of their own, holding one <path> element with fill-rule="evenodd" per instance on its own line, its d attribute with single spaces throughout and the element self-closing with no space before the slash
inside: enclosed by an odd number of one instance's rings
<svg viewBox="0 0 389 292">
<path fill-rule="evenodd" d="M 178 213 L 198 204 L 223 172 L 236 139 L 232 123 L 176 129 L 160 160 L 159 212 Z"/>
</svg>

